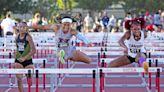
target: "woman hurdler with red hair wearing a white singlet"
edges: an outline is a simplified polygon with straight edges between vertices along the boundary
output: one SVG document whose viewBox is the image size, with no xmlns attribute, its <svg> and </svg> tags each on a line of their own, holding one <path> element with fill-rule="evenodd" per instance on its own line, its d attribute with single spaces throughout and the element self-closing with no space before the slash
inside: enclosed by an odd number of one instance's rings
<svg viewBox="0 0 164 92">
<path fill-rule="evenodd" d="M 147 33 L 142 30 L 144 24 L 145 21 L 143 18 L 135 18 L 126 21 L 125 27 L 128 31 L 119 40 L 120 46 L 124 48 L 125 55 L 111 61 L 108 67 L 120 67 L 138 62 L 141 57 L 146 58 L 144 39 L 147 37 Z M 125 41 L 127 41 L 126 45 Z M 142 62 L 142 66 L 147 72 L 148 63 Z"/>
</svg>

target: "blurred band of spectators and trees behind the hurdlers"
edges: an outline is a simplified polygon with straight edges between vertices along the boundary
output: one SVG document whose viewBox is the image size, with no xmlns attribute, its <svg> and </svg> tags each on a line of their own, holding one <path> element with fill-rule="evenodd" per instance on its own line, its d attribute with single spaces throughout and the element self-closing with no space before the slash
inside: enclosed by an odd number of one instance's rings
<svg viewBox="0 0 164 92">
<path fill-rule="evenodd" d="M 164 31 L 162 0 L 0 0 L 0 36 L 13 35 L 20 21 L 28 26 L 60 24 L 71 16 L 79 32 L 126 32 L 124 22 L 135 17 L 146 21 L 145 28 Z M 37 32 L 37 29 L 29 31 Z M 47 30 L 40 30 L 47 31 Z"/>
</svg>

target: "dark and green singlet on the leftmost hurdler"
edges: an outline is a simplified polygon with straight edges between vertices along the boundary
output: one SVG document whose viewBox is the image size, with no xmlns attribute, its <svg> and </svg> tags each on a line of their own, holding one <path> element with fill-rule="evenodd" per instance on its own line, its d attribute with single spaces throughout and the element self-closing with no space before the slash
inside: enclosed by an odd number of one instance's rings
<svg viewBox="0 0 164 92">
<path fill-rule="evenodd" d="M 20 35 L 18 35 L 18 38 L 16 38 L 16 59 L 26 56 L 31 51 L 30 44 L 26 40 L 27 35 L 28 33 L 25 34 L 23 39 L 20 39 Z M 32 57 L 28 57 L 27 60 L 31 58 Z"/>
</svg>

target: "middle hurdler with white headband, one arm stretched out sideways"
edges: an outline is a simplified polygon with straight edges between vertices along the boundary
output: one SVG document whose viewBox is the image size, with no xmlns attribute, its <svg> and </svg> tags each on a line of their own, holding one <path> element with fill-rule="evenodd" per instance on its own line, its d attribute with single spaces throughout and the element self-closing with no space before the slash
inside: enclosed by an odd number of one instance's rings
<svg viewBox="0 0 164 92">
<path fill-rule="evenodd" d="M 37 25 L 33 26 L 35 29 L 53 30 L 56 34 L 57 45 L 59 48 L 58 56 L 61 63 L 65 60 L 80 61 L 84 63 L 90 63 L 92 60 L 83 52 L 76 50 L 75 47 L 69 45 L 69 40 L 72 36 L 82 40 L 86 45 L 91 46 L 89 40 L 78 33 L 78 31 L 71 28 L 72 19 L 70 17 L 64 17 L 62 23 L 57 25 Z"/>
</svg>

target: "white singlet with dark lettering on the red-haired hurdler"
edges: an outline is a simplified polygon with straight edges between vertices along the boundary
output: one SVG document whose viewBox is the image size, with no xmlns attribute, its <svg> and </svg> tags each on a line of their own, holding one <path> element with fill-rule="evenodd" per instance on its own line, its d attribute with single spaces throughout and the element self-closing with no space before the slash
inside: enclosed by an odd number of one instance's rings
<svg viewBox="0 0 164 92">
<path fill-rule="evenodd" d="M 145 47 L 144 47 L 144 32 L 141 31 L 141 38 L 140 40 L 136 41 L 134 39 L 134 35 L 131 32 L 130 39 L 127 40 L 127 47 L 128 47 L 128 55 L 131 57 L 136 57 L 137 53 L 140 51 L 140 53 L 145 53 Z"/>
</svg>

